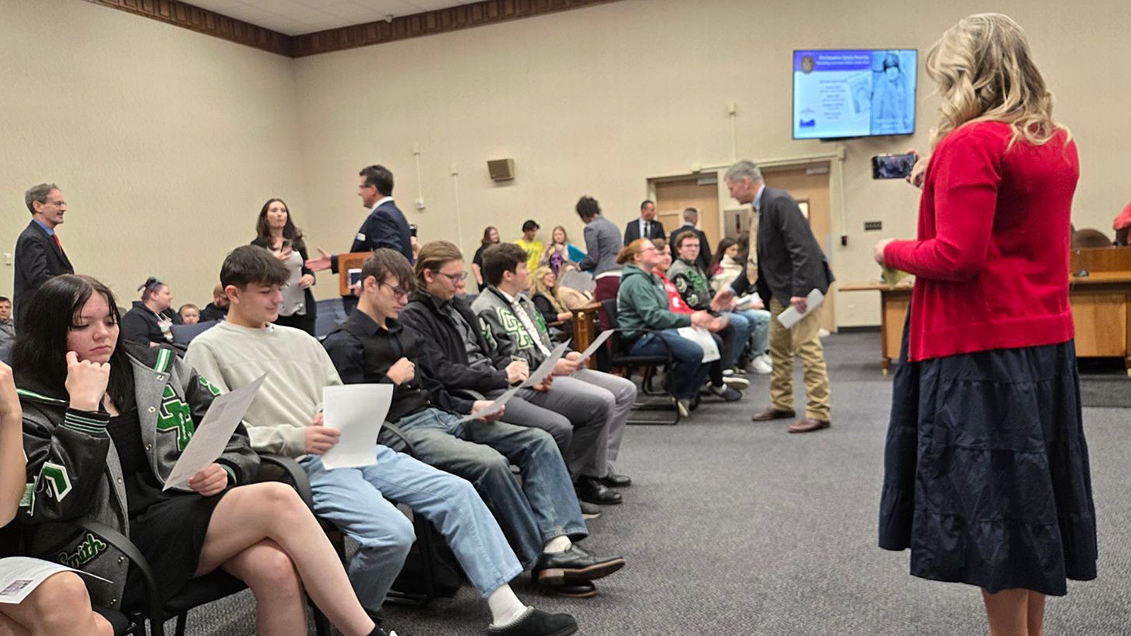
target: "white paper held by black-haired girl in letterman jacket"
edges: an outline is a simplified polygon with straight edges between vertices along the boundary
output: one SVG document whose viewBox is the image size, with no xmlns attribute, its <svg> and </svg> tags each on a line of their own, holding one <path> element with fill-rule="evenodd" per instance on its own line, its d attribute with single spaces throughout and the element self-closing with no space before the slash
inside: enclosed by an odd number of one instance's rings
<svg viewBox="0 0 1131 636">
<path fill-rule="evenodd" d="M 259 387 L 262 386 L 266 377 L 267 373 L 264 373 L 256 381 L 225 393 L 213 401 L 204 420 L 197 424 L 197 430 L 192 433 L 189 445 L 184 447 L 181 457 L 170 471 L 169 479 L 165 480 L 165 487 L 162 490 L 188 488 L 184 482 L 190 476 L 224 454 L 227 440 L 232 439 L 235 427 L 240 426 L 243 414 L 248 412 L 248 406 L 254 402 L 256 394 L 259 393 Z"/>
</svg>

